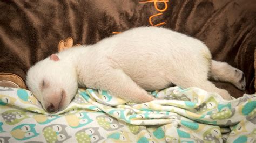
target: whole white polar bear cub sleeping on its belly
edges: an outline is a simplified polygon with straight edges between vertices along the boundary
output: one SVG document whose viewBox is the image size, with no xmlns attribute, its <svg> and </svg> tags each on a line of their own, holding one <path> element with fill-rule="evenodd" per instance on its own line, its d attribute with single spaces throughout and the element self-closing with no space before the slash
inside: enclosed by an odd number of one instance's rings
<svg viewBox="0 0 256 143">
<path fill-rule="evenodd" d="M 199 87 L 231 99 L 208 77 L 245 89 L 244 73 L 212 60 L 203 42 L 165 28 L 139 27 L 52 54 L 29 69 L 26 84 L 51 113 L 65 109 L 78 87 L 107 90 L 136 103 L 154 99 L 146 90 L 173 84 Z"/>
</svg>

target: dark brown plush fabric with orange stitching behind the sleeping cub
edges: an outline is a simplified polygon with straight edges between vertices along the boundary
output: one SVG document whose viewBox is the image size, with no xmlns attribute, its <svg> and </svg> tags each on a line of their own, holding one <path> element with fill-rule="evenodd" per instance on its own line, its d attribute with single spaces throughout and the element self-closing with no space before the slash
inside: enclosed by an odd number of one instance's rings
<svg viewBox="0 0 256 143">
<path fill-rule="evenodd" d="M 1 1 L 0 72 L 24 80 L 31 65 L 58 51 L 62 39 L 93 44 L 132 27 L 157 25 L 204 41 L 214 59 L 244 71 L 246 92 L 253 93 L 255 1 L 162 1 Z M 233 85 L 217 84 L 241 96 Z"/>
</svg>

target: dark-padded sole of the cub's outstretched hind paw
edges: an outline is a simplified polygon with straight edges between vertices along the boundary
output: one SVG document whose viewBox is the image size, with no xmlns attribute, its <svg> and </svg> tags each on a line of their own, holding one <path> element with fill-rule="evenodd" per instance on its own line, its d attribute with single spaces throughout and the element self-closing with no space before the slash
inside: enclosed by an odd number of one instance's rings
<svg viewBox="0 0 256 143">
<path fill-rule="evenodd" d="M 240 90 L 245 90 L 246 88 L 245 74 L 239 69 L 234 71 L 233 84 Z"/>
</svg>

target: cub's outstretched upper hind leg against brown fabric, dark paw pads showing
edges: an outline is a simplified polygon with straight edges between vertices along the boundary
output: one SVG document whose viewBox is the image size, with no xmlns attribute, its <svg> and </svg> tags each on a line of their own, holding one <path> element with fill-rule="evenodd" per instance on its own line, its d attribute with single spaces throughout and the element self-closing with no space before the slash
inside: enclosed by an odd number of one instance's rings
<svg viewBox="0 0 256 143">
<path fill-rule="evenodd" d="M 212 60 L 210 78 L 217 81 L 230 82 L 240 90 L 245 90 L 246 87 L 245 74 L 241 70 L 234 68 L 225 62 Z"/>
</svg>

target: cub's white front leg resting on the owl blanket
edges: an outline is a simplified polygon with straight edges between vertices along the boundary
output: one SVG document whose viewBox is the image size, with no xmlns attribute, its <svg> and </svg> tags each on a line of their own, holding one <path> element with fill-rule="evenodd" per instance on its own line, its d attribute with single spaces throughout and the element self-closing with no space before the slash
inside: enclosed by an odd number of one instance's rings
<svg viewBox="0 0 256 143">
<path fill-rule="evenodd" d="M 114 96 L 135 103 L 150 102 L 155 99 L 120 69 L 109 69 L 101 75 L 98 87 L 109 91 Z"/>
</svg>

